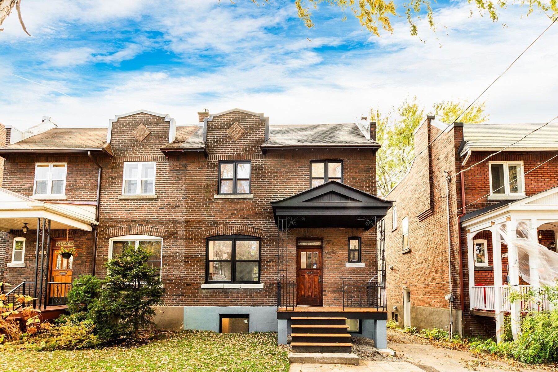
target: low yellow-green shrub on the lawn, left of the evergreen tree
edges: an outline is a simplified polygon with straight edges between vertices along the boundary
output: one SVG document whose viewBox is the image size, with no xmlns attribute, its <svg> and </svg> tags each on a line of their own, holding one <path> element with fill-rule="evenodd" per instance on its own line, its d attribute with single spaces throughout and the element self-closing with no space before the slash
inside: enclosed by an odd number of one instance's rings
<svg viewBox="0 0 558 372">
<path fill-rule="evenodd" d="M 50 328 L 41 336 L 39 350 L 83 349 L 99 345 L 99 337 L 94 335 L 95 325 L 91 320 L 66 320 L 64 324 Z"/>
</svg>

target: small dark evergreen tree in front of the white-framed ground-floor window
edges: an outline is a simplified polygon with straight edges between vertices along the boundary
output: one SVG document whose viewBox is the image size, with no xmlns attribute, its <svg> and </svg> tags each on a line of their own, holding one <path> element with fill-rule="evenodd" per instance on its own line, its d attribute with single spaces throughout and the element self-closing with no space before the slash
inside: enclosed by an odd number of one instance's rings
<svg viewBox="0 0 558 372">
<path fill-rule="evenodd" d="M 165 288 L 161 286 L 159 270 L 147 264 L 149 257 L 145 247 L 132 245 L 107 263 L 98 319 L 103 317 L 114 327 L 105 321 L 99 325 L 105 328 L 99 329 L 104 338 L 137 337 L 141 328 L 153 325 L 152 306 L 162 304 Z"/>
</svg>

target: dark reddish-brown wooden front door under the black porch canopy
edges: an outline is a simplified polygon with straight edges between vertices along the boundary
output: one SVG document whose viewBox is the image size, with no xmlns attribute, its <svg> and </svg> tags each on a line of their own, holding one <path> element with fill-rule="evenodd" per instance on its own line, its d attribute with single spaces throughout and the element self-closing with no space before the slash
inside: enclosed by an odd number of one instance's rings
<svg viewBox="0 0 558 372">
<path fill-rule="evenodd" d="M 321 240 L 299 240 L 296 249 L 297 305 L 322 306 L 323 304 L 321 254 Z"/>
</svg>

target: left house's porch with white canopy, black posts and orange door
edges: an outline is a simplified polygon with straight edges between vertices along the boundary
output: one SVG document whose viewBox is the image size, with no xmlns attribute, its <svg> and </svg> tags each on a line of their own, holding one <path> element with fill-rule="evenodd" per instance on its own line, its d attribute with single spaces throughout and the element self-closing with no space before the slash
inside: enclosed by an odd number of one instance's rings
<svg viewBox="0 0 558 372">
<path fill-rule="evenodd" d="M 8 302 L 17 303 L 14 300 L 18 294 L 30 296 L 30 304 L 18 307 L 32 305 L 44 316 L 51 312 L 54 316 L 65 308 L 76 260 L 73 255 L 62 257 L 59 252 L 64 247 L 74 247 L 80 256 L 85 251 L 92 252 L 93 247 L 76 247 L 74 238 L 79 232 L 82 241 L 88 238 L 94 242 L 96 212 L 95 203 L 41 201 L 0 188 L 0 230 L 8 234 L 11 250 L 2 279 L 8 279 L 11 285 L 4 283 L 2 288 Z M 93 259 L 91 253 L 84 256 L 79 257 L 80 264 Z M 19 280 L 12 282 L 14 278 Z"/>
</svg>

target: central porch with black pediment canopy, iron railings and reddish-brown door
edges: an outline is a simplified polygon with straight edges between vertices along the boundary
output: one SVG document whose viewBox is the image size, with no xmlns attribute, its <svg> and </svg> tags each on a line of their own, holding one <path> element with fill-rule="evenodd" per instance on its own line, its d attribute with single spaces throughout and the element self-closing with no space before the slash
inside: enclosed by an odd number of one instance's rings
<svg viewBox="0 0 558 372">
<path fill-rule="evenodd" d="M 280 344 L 294 318 L 347 318 L 386 348 L 383 218 L 391 205 L 337 181 L 272 201 Z"/>
</svg>

